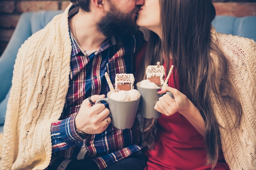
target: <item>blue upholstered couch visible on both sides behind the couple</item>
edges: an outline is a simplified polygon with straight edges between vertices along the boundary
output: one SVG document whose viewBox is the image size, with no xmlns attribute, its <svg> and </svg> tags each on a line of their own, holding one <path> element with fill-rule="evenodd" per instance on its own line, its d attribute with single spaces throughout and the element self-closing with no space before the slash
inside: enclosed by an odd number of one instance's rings
<svg viewBox="0 0 256 170">
<path fill-rule="evenodd" d="M 33 33 L 43 28 L 52 18 L 63 11 L 26 12 L 20 16 L 16 29 L 0 57 L 0 132 L 3 131 L 4 116 L 9 98 L 11 78 L 16 54 L 21 44 Z M 217 32 L 247 37 L 256 41 L 256 16 L 217 16 L 213 21 Z"/>
</svg>

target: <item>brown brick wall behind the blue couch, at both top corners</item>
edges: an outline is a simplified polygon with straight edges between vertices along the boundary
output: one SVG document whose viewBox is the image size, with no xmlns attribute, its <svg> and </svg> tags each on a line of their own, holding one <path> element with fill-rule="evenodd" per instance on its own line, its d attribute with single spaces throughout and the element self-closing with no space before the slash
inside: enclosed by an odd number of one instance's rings
<svg viewBox="0 0 256 170">
<path fill-rule="evenodd" d="M 1 0 L 0 55 L 7 46 L 20 15 L 27 11 L 64 10 L 69 0 Z M 217 15 L 256 15 L 256 0 L 213 0 Z"/>
</svg>

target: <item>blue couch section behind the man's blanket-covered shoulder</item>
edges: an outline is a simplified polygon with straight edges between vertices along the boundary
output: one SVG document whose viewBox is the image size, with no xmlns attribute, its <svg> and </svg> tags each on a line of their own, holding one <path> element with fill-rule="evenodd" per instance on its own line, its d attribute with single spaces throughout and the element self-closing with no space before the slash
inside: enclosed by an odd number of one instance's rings
<svg viewBox="0 0 256 170">
<path fill-rule="evenodd" d="M 3 131 L 4 116 L 11 87 L 13 65 L 21 44 L 33 33 L 44 28 L 52 18 L 63 11 L 38 11 L 22 13 L 11 39 L 0 57 L 0 132 Z"/>
</svg>

